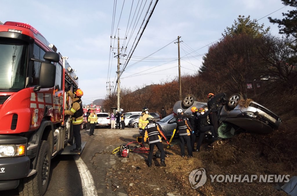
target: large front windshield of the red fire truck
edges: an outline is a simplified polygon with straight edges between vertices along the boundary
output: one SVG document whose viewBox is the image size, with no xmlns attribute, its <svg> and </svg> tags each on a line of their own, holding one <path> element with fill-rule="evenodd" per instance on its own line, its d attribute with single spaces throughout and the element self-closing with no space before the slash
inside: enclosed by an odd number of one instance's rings
<svg viewBox="0 0 297 196">
<path fill-rule="evenodd" d="M 0 91 L 25 87 L 28 45 L 0 40 Z"/>
</svg>

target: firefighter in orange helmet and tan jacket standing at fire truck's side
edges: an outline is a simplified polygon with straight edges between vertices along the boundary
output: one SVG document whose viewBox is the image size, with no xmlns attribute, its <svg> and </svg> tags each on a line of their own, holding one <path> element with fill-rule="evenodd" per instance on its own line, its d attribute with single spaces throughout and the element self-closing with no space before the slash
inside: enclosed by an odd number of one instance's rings
<svg viewBox="0 0 297 196">
<path fill-rule="evenodd" d="M 73 135 L 76 145 L 76 148 L 70 152 L 81 152 L 80 124 L 83 123 L 83 102 L 80 98 L 83 96 L 83 91 L 78 88 L 74 94 L 71 91 L 67 91 L 67 94 L 70 96 L 72 104 L 71 109 L 65 110 L 64 114 L 71 115 Z"/>
</svg>

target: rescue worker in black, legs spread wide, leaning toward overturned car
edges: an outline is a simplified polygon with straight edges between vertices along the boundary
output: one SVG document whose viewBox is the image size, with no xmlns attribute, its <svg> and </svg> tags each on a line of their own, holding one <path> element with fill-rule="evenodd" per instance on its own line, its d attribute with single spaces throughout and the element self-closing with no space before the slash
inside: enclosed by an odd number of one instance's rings
<svg viewBox="0 0 297 196">
<path fill-rule="evenodd" d="M 209 125 L 207 122 L 207 116 L 210 113 L 210 110 L 205 113 L 205 110 L 203 108 L 200 108 L 198 112 L 200 113 L 200 115 L 198 116 L 199 139 L 197 142 L 197 152 L 200 151 L 200 146 L 202 144 L 202 140 L 206 131 L 210 131 L 212 138 L 217 139 L 217 137 L 215 136 L 214 127 L 212 125 Z"/>
</svg>

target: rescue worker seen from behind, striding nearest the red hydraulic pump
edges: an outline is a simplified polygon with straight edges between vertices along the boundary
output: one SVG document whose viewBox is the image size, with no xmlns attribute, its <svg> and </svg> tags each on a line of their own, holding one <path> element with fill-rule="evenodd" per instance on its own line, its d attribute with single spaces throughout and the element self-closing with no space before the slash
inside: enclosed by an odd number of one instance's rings
<svg viewBox="0 0 297 196">
<path fill-rule="evenodd" d="M 165 134 L 162 130 L 162 127 L 153 121 L 154 117 L 149 116 L 146 120 L 149 121 L 149 123 L 144 127 L 144 142 L 147 141 L 147 138 L 149 140 L 149 156 L 148 156 L 148 166 L 151 167 L 151 160 L 153 158 L 153 152 L 155 145 L 157 146 L 158 150 L 161 152 L 161 164 L 163 167 L 166 167 L 165 164 L 165 151 L 162 144 L 162 137 L 167 140 L 165 137 Z"/>
</svg>

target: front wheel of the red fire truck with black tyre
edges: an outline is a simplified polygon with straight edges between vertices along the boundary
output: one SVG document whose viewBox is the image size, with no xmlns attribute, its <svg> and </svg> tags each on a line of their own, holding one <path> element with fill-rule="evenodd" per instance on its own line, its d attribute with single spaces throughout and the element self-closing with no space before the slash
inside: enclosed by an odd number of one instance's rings
<svg viewBox="0 0 297 196">
<path fill-rule="evenodd" d="M 50 175 L 50 146 L 48 141 L 40 143 L 36 173 L 23 179 L 19 186 L 20 195 L 44 195 L 48 188 Z"/>
</svg>

